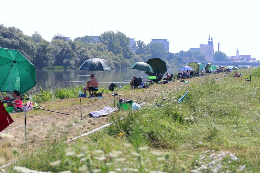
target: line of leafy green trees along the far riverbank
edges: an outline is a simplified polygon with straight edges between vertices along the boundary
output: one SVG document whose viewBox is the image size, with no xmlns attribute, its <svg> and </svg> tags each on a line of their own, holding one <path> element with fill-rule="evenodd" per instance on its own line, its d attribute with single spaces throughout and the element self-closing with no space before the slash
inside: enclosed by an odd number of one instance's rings
<svg viewBox="0 0 260 173">
<path fill-rule="evenodd" d="M 182 64 L 183 57 L 188 57 L 191 61 L 205 60 L 200 51 L 170 53 L 161 43 L 145 44 L 141 40 L 136 41 L 132 50 L 129 47 L 129 37 L 120 31 L 106 31 L 98 39 L 96 42 L 86 35 L 72 41 L 57 34 L 49 42 L 37 31 L 28 36 L 18 28 L 0 24 L 0 47 L 19 50 L 38 69 L 49 66 L 77 68 L 91 58 L 105 59 L 115 69 L 126 68 L 134 62 L 147 62 L 150 58 L 161 58 L 170 67 Z"/>
</svg>

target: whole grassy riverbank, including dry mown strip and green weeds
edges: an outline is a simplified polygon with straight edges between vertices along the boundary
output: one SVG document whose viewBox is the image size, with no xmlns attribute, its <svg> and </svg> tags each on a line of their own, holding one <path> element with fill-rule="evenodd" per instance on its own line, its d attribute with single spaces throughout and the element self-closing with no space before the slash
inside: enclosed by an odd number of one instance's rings
<svg viewBox="0 0 260 173">
<path fill-rule="evenodd" d="M 70 115 L 26 112 L 27 150 L 24 113 L 12 114 L 15 122 L 8 129 L 21 127 L 2 135 L 0 164 L 19 160 L 4 168 L 6 172 L 15 172 L 15 166 L 51 172 L 259 172 L 260 68 L 238 72 L 243 77 L 221 73 L 189 83 L 133 90 L 125 86 L 117 91 L 115 103 L 122 97 L 145 102 L 145 107 L 101 118 L 88 114 L 114 107 L 111 93 L 81 99 L 82 112 L 79 98 L 44 102 L 42 108 Z M 252 82 L 245 83 L 250 74 Z M 187 102 L 177 104 L 186 91 Z"/>
</svg>

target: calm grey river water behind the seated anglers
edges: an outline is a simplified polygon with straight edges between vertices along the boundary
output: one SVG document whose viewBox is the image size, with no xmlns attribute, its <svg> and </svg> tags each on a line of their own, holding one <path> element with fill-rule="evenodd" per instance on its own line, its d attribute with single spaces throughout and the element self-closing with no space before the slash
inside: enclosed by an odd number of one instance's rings
<svg viewBox="0 0 260 173">
<path fill-rule="evenodd" d="M 167 72 L 169 74 L 174 74 L 178 72 L 177 68 L 168 68 Z M 132 80 L 132 75 L 137 78 L 141 77 L 142 80 L 148 80 L 148 75 L 145 72 L 135 70 L 135 69 L 114 69 L 108 71 L 86 71 L 77 69 L 64 69 L 64 70 L 36 70 L 36 85 L 30 91 L 38 90 L 40 87 L 45 88 L 48 86 L 57 87 L 58 83 L 62 83 L 61 87 L 66 88 L 67 86 L 75 86 L 83 84 L 85 86 L 86 82 L 90 80 L 90 74 L 94 73 L 95 78 L 99 81 L 99 87 L 109 87 L 111 83 L 122 86 L 129 83 Z M 166 74 L 166 73 L 165 73 Z M 164 77 L 166 75 L 164 74 Z M 27 93 L 28 93 L 27 92 Z"/>
</svg>

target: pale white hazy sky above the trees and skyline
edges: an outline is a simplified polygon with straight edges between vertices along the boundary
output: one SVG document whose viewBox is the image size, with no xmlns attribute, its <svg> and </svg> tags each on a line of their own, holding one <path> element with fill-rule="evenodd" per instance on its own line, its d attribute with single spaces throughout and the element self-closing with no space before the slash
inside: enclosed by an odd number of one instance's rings
<svg viewBox="0 0 260 173">
<path fill-rule="evenodd" d="M 12 0 L 1 3 L 0 24 L 45 40 L 74 39 L 120 31 L 148 44 L 167 39 L 170 52 L 199 48 L 213 38 L 214 51 L 260 60 L 258 2 L 255 0 Z"/>
</svg>

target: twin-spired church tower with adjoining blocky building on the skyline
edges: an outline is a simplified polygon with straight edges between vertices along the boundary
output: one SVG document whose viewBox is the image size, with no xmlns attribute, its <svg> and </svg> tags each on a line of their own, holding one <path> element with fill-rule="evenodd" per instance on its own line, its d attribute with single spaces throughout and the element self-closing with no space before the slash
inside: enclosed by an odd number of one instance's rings
<svg viewBox="0 0 260 173">
<path fill-rule="evenodd" d="M 206 61 L 214 61 L 214 44 L 213 38 L 208 37 L 208 44 L 200 44 L 200 53 L 205 55 Z"/>
</svg>

